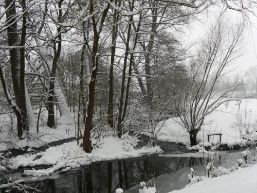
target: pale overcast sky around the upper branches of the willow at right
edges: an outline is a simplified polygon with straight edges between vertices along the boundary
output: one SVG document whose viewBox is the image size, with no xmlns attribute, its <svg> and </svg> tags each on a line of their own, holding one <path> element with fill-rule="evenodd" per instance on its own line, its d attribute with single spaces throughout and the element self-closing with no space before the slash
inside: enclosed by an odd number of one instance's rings
<svg viewBox="0 0 257 193">
<path fill-rule="evenodd" d="M 220 12 L 220 8 L 213 8 L 205 12 L 204 14 L 198 15 L 199 21 L 195 20 L 190 22 L 190 25 L 185 29 L 185 43 L 193 43 L 199 41 L 205 36 L 206 30 L 209 28 L 210 23 L 217 17 Z M 240 21 L 242 19 L 241 13 L 233 10 L 227 10 L 226 18 L 231 23 Z M 235 60 L 234 66 L 236 67 L 234 73 L 241 74 L 244 76 L 244 72 L 249 69 L 250 66 L 257 66 L 257 16 L 249 14 L 249 22 L 244 32 L 244 40 L 242 52 L 244 56 Z"/>
</svg>

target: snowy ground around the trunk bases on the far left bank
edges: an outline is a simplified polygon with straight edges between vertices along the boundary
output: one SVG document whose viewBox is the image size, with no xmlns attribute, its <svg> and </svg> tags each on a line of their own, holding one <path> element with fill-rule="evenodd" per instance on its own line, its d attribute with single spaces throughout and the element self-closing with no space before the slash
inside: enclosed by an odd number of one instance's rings
<svg viewBox="0 0 257 193">
<path fill-rule="evenodd" d="M 57 112 L 57 127 L 51 129 L 46 125 L 47 111 L 45 109 L 42 109 L 42 111 L 39 119 L 39 133 L 30 132 L 28 135 L 25 135 L 25 138 L 22 140 L 19 140 L 16 136 L 15 138 L 12 131 L 16 130 L 16 118 L 14 115 L 1 114 L 0 127 L 2 126 L 2 130 L 0 135 L 0 151 L 13 148 L 41 147 L 51 142 L 75 137 L 74 118 L 72 118 L 71 115 L 69 118 L 64 116 L 60 117 L 60 113 Z M 34 116 L 37 116 L 37 114 L 35 113 Z"/>
</svg>

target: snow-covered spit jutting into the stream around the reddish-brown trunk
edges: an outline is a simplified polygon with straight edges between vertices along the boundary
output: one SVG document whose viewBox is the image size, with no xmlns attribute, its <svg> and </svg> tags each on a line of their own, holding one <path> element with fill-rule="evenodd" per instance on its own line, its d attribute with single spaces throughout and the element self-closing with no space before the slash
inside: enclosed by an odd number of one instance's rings
<svg viewBox="0 0 257 193">
<path fill-rule="evenodd" d="M 158 147 L 134 149 L 138 139 L 129 135 L 124 135 L 122 139 L 114 136 L 103 138 L 91 153 L 84 152 L 82 147 L 77 146 L 76 142 L 69 142 L 56 147 L 50 147 L 44 152 L 31 155 L 19 155 L 11 160 L 11 168 L 53 165 L 53 167 L 42 170 L 25 170 L 24 174 L 31 176 L 48 176 L 63 167 L 76 168 L 87 165 L 91 162 L 106 161 L 114 159 L 124 159 L 137 157 L 146 153 L 160 153 Z"/>
</svg>

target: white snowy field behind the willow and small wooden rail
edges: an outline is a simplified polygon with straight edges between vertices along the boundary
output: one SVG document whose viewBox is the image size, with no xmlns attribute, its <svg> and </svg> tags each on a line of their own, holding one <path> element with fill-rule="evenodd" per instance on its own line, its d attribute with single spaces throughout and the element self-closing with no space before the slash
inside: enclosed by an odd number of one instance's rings
<svg viewBox="0 0 257 193">
<path fill-rule="evenodd" d="M 245 139 L 240 136 L 240 129 L 236 126 L 238 122 L 238 115 L 241 117 L 242 122 L 252 131 L 253 135 L 257 132 L 257 99 L 243 99 L 240 104 L 240 110 L 238 111 L 240 102 L 230 101 L 227 106 L 222 104 L 216 111 L 212 112 L 206 117 L 204 126 L 201 131 L 198 132 L 197 139 L 199 142 L 207 142 L 208 133 L 223 133 L 222 144 L 234 145 L 246 143 Z M 158 133 L 158 139 L 160 141 L 175 142 L 181 144 L 190 144 L 189 133 L 183 129 L 178 122 L 179 118 L 170 118 L 164 122 L 163 127 Z M 210 141 L 217 142 L 217 137 L 211 137 Z"/>
</svg>

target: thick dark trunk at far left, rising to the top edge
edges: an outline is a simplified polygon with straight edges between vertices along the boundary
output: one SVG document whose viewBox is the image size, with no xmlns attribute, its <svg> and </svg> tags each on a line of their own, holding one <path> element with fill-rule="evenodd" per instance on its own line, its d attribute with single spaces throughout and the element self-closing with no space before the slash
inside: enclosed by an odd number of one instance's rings
<svg viewBox="0 0 257 193">
<path fill-rule="evenodd" d="M 21 42 L 19 40 L 19 36 L 17 33 L 17 21 L 16 21 L 16 5 L 15 1 L 6 0 L 6 7 L 9 9 L 6 12 L 6 20 L 7 20 L 7 37 L 8 37 L 8 45 L 9 46 L 24 46 L 25 38 L 26 38 L 26 4 L 25 0 L 22 1 L 22 34 L 21 34 Z M 17 135 L 19 138 L 23 135 L 23 130 L 28 130 L 28 119 L 27 119 L 27 109 L 26 109 L 26 100 L 25 100 L 25 79 L 24 79 L 24 71 L 25 71 L 25 59 L 24 53 L 25 48 L 15 48 L 12 47 L 10 50 L 10 64 L 11 64 L 11 73 L 12 73 L 12 84 L 15 95 L 15 100 L 17 107 L 20 109 L 20 113 L 15 112 L 17 117 Z"/>
</svg>

